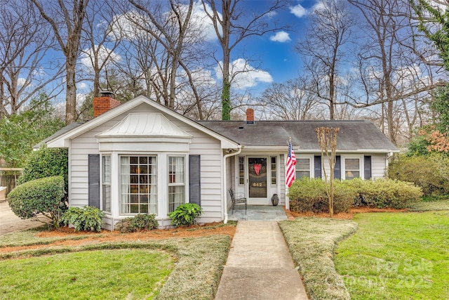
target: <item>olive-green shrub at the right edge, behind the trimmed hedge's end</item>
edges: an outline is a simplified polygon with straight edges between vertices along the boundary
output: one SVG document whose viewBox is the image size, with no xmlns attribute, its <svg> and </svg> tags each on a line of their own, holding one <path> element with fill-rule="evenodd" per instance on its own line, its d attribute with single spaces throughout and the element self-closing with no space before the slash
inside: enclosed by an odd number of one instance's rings
<svg viewBox="0 0 449 300">
<path fill-rule="evenodd" d="M 424 195 L 449 193 L 449 157 L 443 153 L 425 157 L 401 155 L 389 164 L 388 174 L 391 179 L 415 183 Z"/>
</svg>

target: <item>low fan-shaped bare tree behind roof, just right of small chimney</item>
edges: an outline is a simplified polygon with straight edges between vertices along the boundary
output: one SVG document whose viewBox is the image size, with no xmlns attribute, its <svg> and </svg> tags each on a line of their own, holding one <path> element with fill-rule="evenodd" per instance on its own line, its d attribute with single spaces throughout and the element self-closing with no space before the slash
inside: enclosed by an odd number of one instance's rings
<svg viewBox="0 0 449 300">
<path fill-rule="evenodd" d="M 300 77 L 283 84 L 272 84 L 260 96 L 269 117 L 282 120 L 306 120 L 319 117 L 319 102 L 309 93 L 309 79 Z"/>
</svg>

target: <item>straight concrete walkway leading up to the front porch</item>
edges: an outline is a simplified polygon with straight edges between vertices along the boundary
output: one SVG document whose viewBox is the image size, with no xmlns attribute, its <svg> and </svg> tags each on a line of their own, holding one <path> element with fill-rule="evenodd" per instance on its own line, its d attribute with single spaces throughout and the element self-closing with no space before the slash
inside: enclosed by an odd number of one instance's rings
<svg viewBox="0 0 449 300">
<path fill-rule="evenodd" d="M 276 221 L 239 221 L 215 300 L 309 299 Z"/>
</svg>

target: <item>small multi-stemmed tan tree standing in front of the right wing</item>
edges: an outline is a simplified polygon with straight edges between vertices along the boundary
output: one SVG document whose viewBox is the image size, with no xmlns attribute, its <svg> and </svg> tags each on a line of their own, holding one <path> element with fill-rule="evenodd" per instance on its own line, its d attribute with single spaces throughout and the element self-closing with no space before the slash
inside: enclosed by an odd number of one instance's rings
<svg viewBox="0 0 449 300">
<path fill-rule="evenodd" d="M 318 145 L 321 149 L 321 164 L 324 173 L 324 180 L 326 181 L 326 194 L 329 200 L 329 216 L 332 218 L 334 214 L 334 169 L 335 157 L 337 152 L 337 135 L 340 131 L 338 127 L 319 127 L 315 129 L 316 138 L 318 138 Z M 330 151 L 330 152 L 329 152 Z M 328 181 L 328 174 L 324 167 L 324 155 L 328 158 L 330 177 Z"/>
</svg>

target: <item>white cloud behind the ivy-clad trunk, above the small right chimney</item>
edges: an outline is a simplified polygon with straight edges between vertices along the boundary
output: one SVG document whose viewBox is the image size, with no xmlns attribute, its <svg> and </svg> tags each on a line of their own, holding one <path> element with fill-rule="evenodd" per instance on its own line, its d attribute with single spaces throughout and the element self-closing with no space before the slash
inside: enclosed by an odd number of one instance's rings
<svg viewBox="0 0 449 300">
<path fill-rule="evenodd" d="M 231 76 L 232 76 L 232 86 L 236 89 L 248 89 L 256 86 L 260 82 L 271 83 L 273 82 L 272 75 L 269 72 L 257 70 L 251 67 L 249 63 L 243 58 L 234 60 L 229 64 Z M 217 74 L 217 79 L 222 79 L 222 62 L 215 67 L 215 72 Z"/>
</svg>

